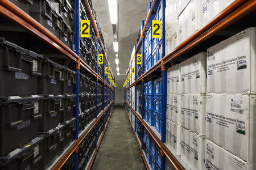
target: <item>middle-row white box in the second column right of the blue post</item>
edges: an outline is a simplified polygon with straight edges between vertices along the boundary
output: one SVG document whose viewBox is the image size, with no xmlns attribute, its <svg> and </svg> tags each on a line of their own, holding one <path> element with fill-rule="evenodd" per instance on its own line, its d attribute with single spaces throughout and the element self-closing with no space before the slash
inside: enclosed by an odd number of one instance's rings
<svg viewBox="0 0 256 170">
<path fill-rule="evenodd" d="M 205 94 L 180 95 L 181 126 L 197 134 L 205 134 Z"/>
</svg>

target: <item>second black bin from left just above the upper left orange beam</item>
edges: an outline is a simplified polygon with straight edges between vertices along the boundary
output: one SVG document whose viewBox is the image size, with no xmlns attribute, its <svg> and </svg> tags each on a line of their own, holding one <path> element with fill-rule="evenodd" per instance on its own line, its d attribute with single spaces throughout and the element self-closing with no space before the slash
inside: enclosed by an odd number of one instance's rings
<svg viewBox="0 0 256 170">
<path fill-rule="evenodd" d="M 53 7 L 47 0 L 35 0 L 30 5 L 30 16 L 53 33 L 52 11 Z"/>
</svg>

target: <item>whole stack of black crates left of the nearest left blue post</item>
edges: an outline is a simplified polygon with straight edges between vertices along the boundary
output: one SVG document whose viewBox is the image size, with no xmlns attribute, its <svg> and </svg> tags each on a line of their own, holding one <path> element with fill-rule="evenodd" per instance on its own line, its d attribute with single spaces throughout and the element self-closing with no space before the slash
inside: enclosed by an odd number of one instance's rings
<svg viewBox="0 0 256 170">
<path fill-rule="evenodd" d="M 76 73 L 4 38 L 0 58 L 0 168 L 46 168 L 73 141 Z"/>
</svg>

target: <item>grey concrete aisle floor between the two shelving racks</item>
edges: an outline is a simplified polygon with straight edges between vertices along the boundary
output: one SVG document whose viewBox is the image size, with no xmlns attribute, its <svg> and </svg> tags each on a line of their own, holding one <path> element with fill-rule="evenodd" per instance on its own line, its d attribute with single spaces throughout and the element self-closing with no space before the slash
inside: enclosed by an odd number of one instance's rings
<svg viewBox="0 0 256 170">
<path fill-rule="evenodd" d="M 115 107 L 92 169 L 146 169 L 124 107 Z"/>
</svg>

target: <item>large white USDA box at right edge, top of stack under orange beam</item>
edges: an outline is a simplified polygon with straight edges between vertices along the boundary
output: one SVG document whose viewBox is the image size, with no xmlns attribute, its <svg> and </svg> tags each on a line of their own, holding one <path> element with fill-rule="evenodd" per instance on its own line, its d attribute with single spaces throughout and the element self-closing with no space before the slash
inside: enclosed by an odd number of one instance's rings
<svg viewBox="0 0 256 170">
<path fill-rule="evenodd" d="M 256 28 L 207 49 L 207 92 L 256 94 Z"/>
</svg>

